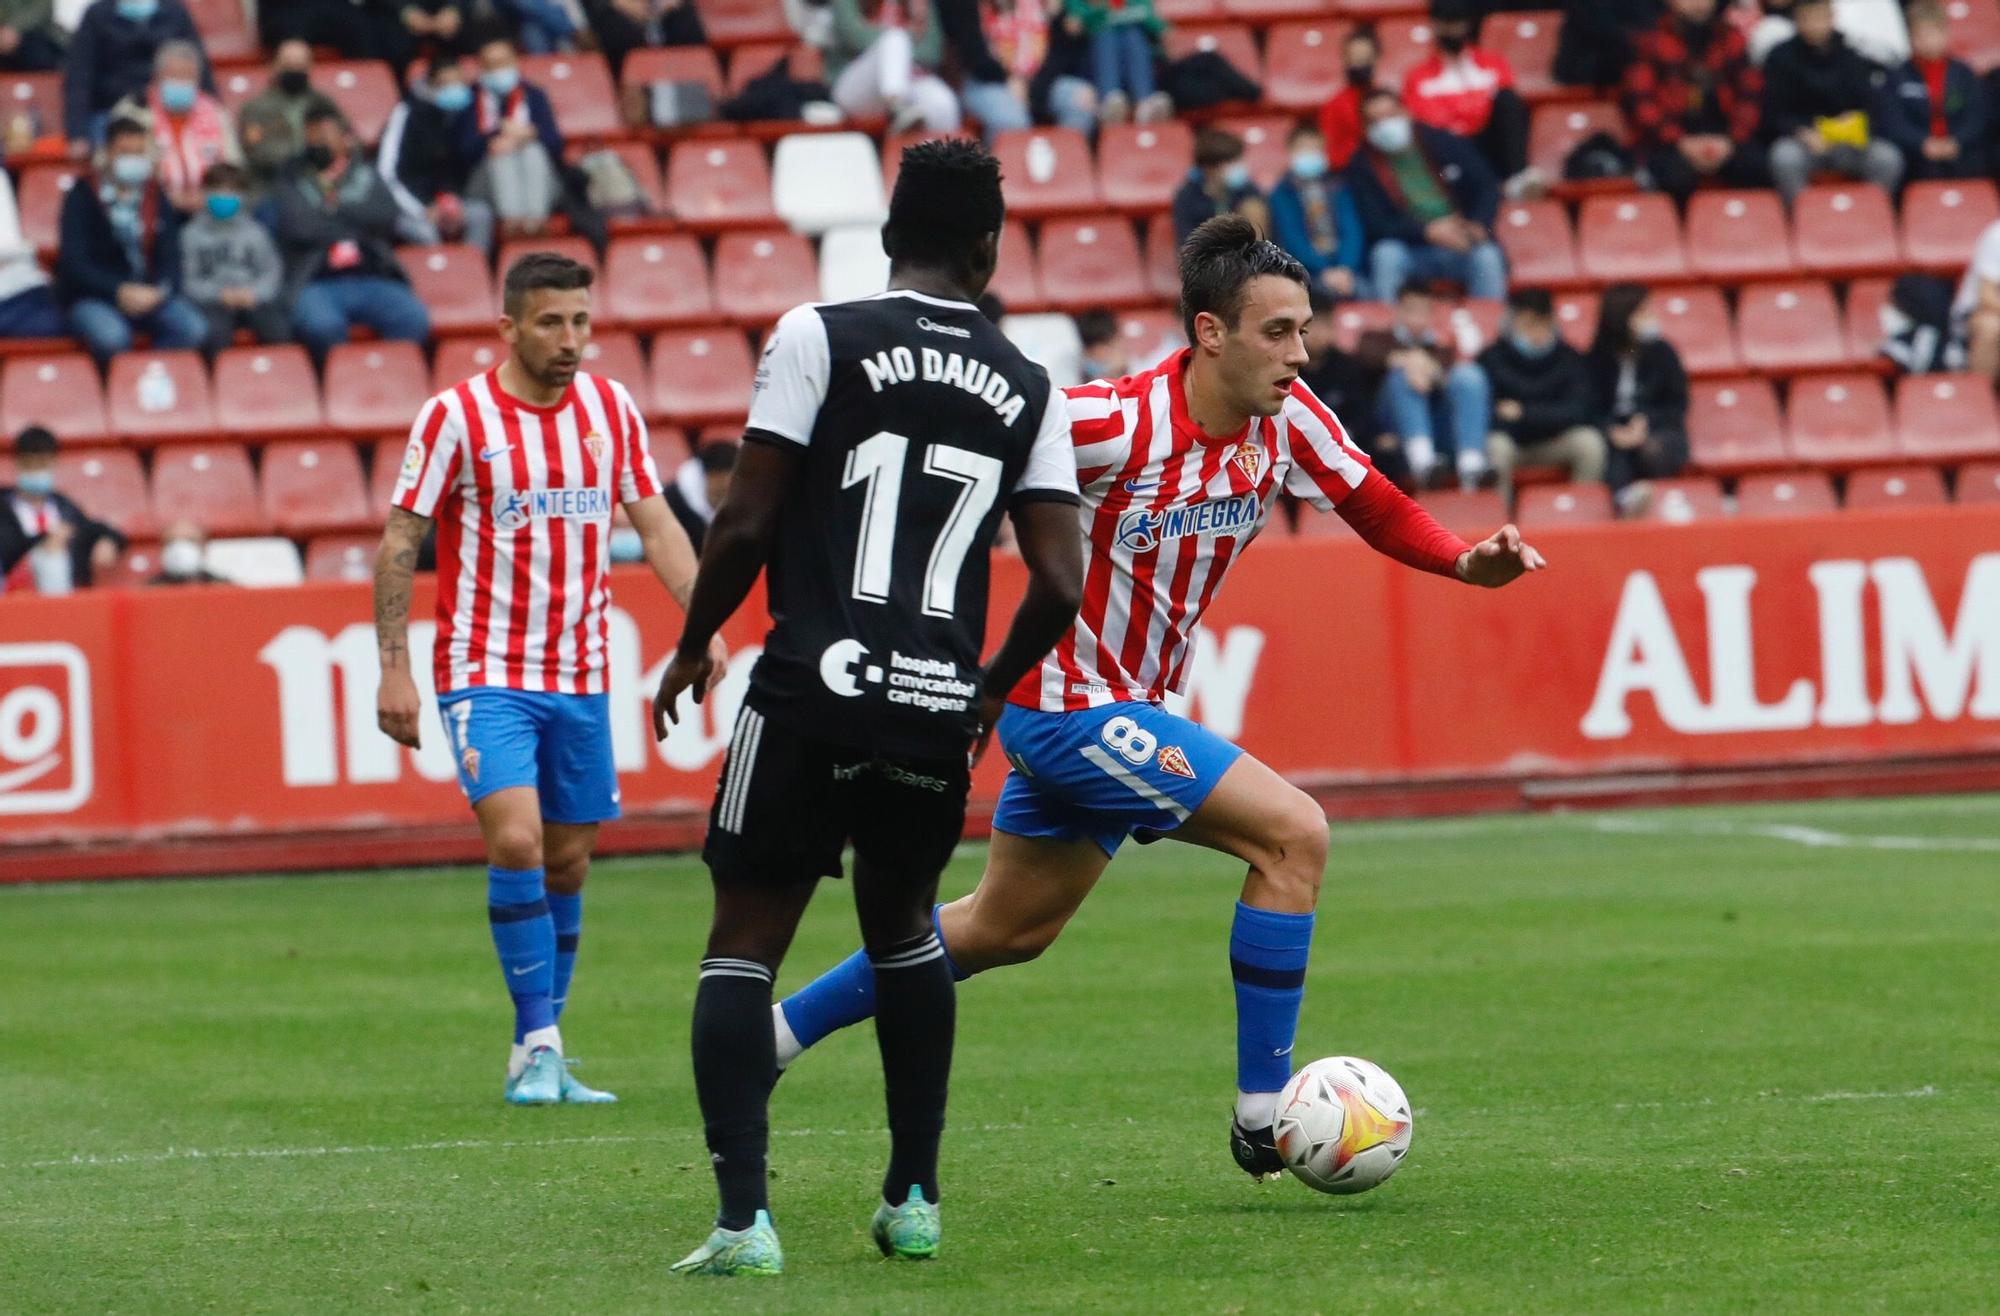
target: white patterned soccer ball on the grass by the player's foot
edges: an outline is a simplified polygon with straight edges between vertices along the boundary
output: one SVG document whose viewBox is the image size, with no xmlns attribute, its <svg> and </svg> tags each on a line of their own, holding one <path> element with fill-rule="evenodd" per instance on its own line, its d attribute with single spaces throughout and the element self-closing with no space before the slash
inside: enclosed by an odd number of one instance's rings
<svg viewBox="0 0 2000 1316">
<path fill-rule="evenodd" d="M 1320 1192 L 1368 1192 L 1386 1180 L 1410 1152 L 1410 1098 L 1370 1060 L 1314 1060 L 1278 1094 L 1278 1154 Z"/>
</svg>

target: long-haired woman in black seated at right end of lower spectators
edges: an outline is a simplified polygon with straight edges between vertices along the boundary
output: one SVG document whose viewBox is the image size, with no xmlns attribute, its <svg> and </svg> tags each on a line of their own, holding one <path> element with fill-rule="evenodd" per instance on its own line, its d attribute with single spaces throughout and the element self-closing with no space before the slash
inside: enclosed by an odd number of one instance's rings
<svg viewBox="0 0 2000 1316">
<path fill-rule="evenodd" d="M 1638 516 L 1650 502 L 1650 482 L 1670 480 L 1688 464 L 1688 372 L 1680 352 L 1660 334 L 1644 286 L 1604 290 L 1584 368 L 1592 408 L 1610 422 L 1604 478 L 1618 508 Z"/>
</svg>

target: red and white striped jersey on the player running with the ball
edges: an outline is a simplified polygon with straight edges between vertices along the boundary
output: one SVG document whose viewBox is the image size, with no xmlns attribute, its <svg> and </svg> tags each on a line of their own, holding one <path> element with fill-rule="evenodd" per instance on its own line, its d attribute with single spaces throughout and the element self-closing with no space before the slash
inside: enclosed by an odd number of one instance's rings
<svg viewBox="0 0 2000 1316">
<path fill-rule="evenodd" d="M 1076 712 L 1182 690 L 1194 628 L 1278 490 L 1326 512 L 1366 478 L 1368 454 L 1304 384 L 1280 414 L 1218 440 L 1188 416 L 1186 368 L 1180 350 L 1066 390 L 1090 540 L 1084 606 L 1014 704 Z"/>
</svg>

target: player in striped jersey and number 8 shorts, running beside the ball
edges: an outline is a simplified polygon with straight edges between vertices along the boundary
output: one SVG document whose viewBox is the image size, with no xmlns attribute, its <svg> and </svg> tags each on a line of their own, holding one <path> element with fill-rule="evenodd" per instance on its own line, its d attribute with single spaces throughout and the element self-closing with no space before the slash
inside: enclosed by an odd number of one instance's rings
<svg viewBox="0 0 2000 1316">
<path fill-rule="evenodd" d="M 1278 1092 L 1306 990 L 1326 814 L 1302 790 L 1162 700 L 1184 686 L 1194 630 L 1280 490 L 1338 510 L 1418 570 L 1504 586 L 1544 566 L 1514 526 L 1478 546 L 1440 528 L 1348 442 L 1298 382 L 1312 318 L 1306 270 L 1234 216 L 1180 252 L 1192 348 L 1154 370 L 1068 390 L 1090 566 L 1076 626 L 1014 688 L 1000 744 L 1014 770 L 978 888 L 938 906 L 964 978 L 1042 954 L 1126 836 L 1170 836 L 1244 860 L 1230 932 L 1236 1108 L 1230 1150 L 1282 1168 Z M 852 956 L 772 1014 L 778 1062 L 874 1010 Z"/>
</svg>

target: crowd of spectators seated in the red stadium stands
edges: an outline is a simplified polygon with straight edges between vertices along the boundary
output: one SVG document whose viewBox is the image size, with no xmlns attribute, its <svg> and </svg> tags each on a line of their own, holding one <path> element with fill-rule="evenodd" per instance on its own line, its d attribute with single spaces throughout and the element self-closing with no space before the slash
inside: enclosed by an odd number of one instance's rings
<svg viewBox="0 0 2000 1316">
<path fill-rule="evenodd" d="M 1388 474 L 1512 500 L 1526 472 L 1558 472 L 1642 516 L 1660 482 L 1698 464 L 1690 368 L 1660 312 L 1674 290 L 1584 278 L 1596 296 L 1578 322 L 1564 300 L 1576 282 L 1522 276 L 1510 220 L 1556 206 L 1568 224 L 1570 204 L 1644 192 L 1690 222 L 1716 190 L 1768 192 L 1792 210 L 1842 180 L 1900 204 L 1912 184 L 1986 186 L 2000 164 L 2000 70 L 1954 58 L 1966 18 L 1938 0 L 1324 0 L 1326 26 L 1298 20 L 1308 4 L 1262 14 L 1222 0 L 234 4 L 0 0 L 0 74 L 60 80 L 50 122 L 20 110 L 0 122 L 10 166 L 66 170 L 40 260 L 32 240 L 0 244 L 0 338 L 38 350 L 68 338 L 108 378 L 134 348 L 216 360 L 298 344 L 316 368 L 350 342 L 428 352 L 438 306 L 412 282 L 418 252 L 472 252 L 490 272 L 510 244 L 580 240 L 608 260 L 614 234 L 682 220 L 714 242 L 722 226 L 660 212 L 662 142 L 676 156 L 690 142 L 728 154 L 746 132 L 768 142 L 848 124 L 890 154 L 918 134 L 1032 136 L 1024 154 L 1002 154 L 1010 184 L 1044 186 L 1070 168 L 1044 128 L 1082 140 L 1086 166 L 1088 142 L 1110 152 L 1110 134 L 1158 128 L 1186 142 L 1186 172 L 1144 212 L 1110 206 L 1132 234 L 1106 234 L 1104 252 L 1136 256 L 1144 234 L 1158 256 L 1168 234 L 1244 214 L 1306 266 L 1306 378 Z M 1264 56 L 1228 22 L 1240 12 L 1268 22 Z M 1532 86 L 1496 40 L 1516 14 L 1560 18 Z M 724 42 L 728 80 L 710 54 L 716 24 L 738 32 Z M 2000 34 L 2000 12 L 1988 28 Z M 1272 138 L 1276 98 L 1256 78 L 1296 56 L 1278 42 L 1300 40 L 1314 42 L 1326 90 L 1284 100 Z M 536 62 L 566 54 L 604 60 L 606 104 L 588 124 L 548 82 L 568 66 Z M 352 82 L 330 74 L 350 78 L 356 62 L 394 88 L 370 122 L 354 116 Z M 1550 152 L 1550 106 L 1610 114 L 1578 114 L 1594 130 Z M 630 144 L 648 156 L 638 172 L 620 150 Z M 764 214 L 788 218 L 768 198 Z M 1040 226 L 1044 260 L 1054 242 L 1096 240 L 1088 222 L 1056 232 Z M 1882 296 L 1884 374 L 2000 378 L 2000 220 L 1974 236 L 1956 284 L 1902 270 Z M 1122 374 L 1176 346 L 1164 314 L 1134 336 L 1126 302 L 1052 300 L 1074 312 L 1058 334 L 1072 354 L 1050 358 L 1058 376 Z M 1154 284 L 1154 308 L 1166 300 Z M 992 314 L 1024 342 L 1042 332 L 1028 326 L 1042 316 L 1004 312 L 996 296 Z M 730 306 L 714 320 L 738 326 L 732 336 L 764 328 Z M 0 580 L 16 590 L 88 584 L 126 550 L 50 486 L 58 442 L 68 436 L 30 426 L 0 466 Z M 690 532 L 732 452 L 694 444 L 672 472 Z M 202 526 L 170 508 L 158 522 L 174 524 L 158 532 L 156 574 L 204 578 Z"/>
</svg>

